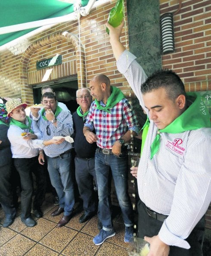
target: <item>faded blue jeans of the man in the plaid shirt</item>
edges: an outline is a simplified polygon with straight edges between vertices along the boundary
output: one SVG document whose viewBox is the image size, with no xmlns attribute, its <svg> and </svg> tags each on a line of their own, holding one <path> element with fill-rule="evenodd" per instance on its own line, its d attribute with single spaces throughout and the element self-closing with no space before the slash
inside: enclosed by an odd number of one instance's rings
<svg viewBox="0 0 211 256">
<path fill-rule="evenodd" d="M 128 165 L 127 152 L 120 157 L 113 154 L 105 155 L 95 153 L 95 171 L 98 184 L 99 212 L 104 230 L 111 230 L 113 227 L 111 210 L 109 207 L 109 167 L 115 184 L 115 190 L 121 207 L 122 217 L 125 226 L 133 225 L 133 209 L 128 194 Z"/>
</svg>

